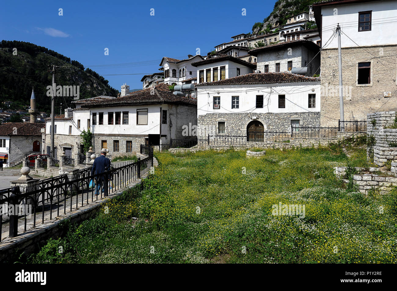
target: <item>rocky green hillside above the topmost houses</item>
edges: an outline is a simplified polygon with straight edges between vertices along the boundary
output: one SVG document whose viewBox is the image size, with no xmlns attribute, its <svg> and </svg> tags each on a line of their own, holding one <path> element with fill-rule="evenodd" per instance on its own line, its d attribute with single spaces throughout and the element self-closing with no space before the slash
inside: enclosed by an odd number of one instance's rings
<svg viewBox="0 0 397 291">
<path fill-rule="evenodd" d="M 262 22 L 257 22 L 252 27 L 253 33 L 269 32 L 272 27 L 286 23 L 287 19 L 303 11 L 309 11 L 309 5 L 319 0 L 278 0 L 274 9 Z"/>
</svg>

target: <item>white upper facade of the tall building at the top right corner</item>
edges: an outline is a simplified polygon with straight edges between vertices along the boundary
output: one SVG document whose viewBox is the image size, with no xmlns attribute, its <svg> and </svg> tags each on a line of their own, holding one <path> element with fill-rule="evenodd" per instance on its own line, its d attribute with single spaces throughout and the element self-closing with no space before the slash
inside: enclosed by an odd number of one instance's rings
<svg viewBox="0 0 397 291">
<path fill-rule="evenodd" d="M 336 14 L 334 13 L 335 9 L 337 9 Z M 372 11 L 371 30 L 369 31 L 358 30 L 358 12 L 361 11 Z M 323 6 L 321 8 L 321 14 L 323 44 L 330 39 L 338 23 L 343 32 L 341 34 L 342 48 L 380 46 L 397 43 L 395 32 L 397 1 L 395 0 Z M 330 44 L 327 46 L 327 49 L 333 48 L 338 48 L 337 38 L 332 38 Z"/>
</svg>

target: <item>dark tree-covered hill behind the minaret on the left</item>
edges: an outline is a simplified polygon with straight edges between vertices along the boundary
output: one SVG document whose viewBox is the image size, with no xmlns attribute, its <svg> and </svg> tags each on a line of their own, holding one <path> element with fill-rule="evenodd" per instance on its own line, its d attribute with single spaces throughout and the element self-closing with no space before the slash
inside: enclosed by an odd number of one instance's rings
<svg viewBox="0 0 397 291">
<path fill-rule="evenodd" d="M 80 86 L 80 99 L 118 94 L 108 80 L 78 61 L 29 42 L 3 40 L 0 43 L 0 102 L 13 101 L 15 109 L 26 107 L 34 86 L 39 110 L 50 112 L 51 97 L 46 95 L 46 87 L 52 84 L 52 74 L 48 72 L 52 64 L 61 67 L 56 70 L 56 84 Z M 73 97 L 56 97 L 56 112 L 59 112 L 60 103 L 65 108 L 71 101 Z"/>
</svg>

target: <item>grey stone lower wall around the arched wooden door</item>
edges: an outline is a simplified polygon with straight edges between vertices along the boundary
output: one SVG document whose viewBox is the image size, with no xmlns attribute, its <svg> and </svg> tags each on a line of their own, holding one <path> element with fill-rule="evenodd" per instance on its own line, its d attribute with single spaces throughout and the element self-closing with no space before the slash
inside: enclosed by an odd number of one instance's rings
<svg viewBox="0 0 397 291">
<path fill-rule="evenodd" d="M 320 125 L 320 112 L 295 113 L 208 113 L 198 116 L 198 139 L 206 138 L 208 134 L 218 135 L 218 122 L 225 122 L 225 135 L 246 135 L 251 116 L 262 122 L 265 131 L 291 132 L 291 120 L 298 119 L 301 127 L 316 127 Z M 222 134 L 219 134 L 222 135 Z"/>
</svg>

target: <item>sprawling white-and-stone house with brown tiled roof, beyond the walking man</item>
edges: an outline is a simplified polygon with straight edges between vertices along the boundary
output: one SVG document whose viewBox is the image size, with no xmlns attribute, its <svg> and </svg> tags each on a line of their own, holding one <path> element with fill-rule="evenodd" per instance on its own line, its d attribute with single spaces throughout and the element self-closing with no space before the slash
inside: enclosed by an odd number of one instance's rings
<svg viewBox="0 0 397 291">
<path fill-rule="evenodd" d="M 197 101 L 173 95 L 168 84 L 135 91 L 124 97 L 79 100 L 76 109 L 65 109 L 55 119 L 55 146 L 77 158 L 81 152 L 83 130 L 93 133 L 95 152 L 108 148 L 111 154 L 139 152 L 141 144 L 169 144 L 170 139 L 185 139 L 184 125 L 197 124 Z M 51 121 L 46 120 L 45 144 L 50 150 Z"/>
</svg>

